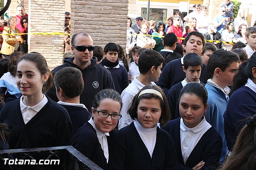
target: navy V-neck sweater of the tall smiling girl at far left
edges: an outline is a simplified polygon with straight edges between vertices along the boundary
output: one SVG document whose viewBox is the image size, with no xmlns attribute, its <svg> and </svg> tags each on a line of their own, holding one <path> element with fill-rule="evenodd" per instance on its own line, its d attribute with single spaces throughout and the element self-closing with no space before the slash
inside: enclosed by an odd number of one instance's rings
<svg viewBox="0 0 256 170">
<path fill-rule="evenodd" d="M 6 103 L 0 112 L 0 122 L 7 124 L 10 135 L 7 142 L 10 149 L 66 146 L 72 136 L 72 123 L 66 109 L 48 98 L 48 101 L 26 124 L 20 100 Z M 26 110 L 25 110 L 26 111 Z"/>
</svg>

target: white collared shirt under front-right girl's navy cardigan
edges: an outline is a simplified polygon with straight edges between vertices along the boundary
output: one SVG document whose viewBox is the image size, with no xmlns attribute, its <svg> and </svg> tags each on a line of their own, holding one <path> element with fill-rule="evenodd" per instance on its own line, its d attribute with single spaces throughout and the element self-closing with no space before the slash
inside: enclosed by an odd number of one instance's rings
<svg viewBox="0 0 256 170">
<path fill-rule="evenodd" d="M 186 127 L 183 119 L 180 119 L 180 146 L 185 164 L 198 141 L 211 127 L 212 126 L 205 120 L 205 118 L 196 127 L 193 128 Z"/>
</svg>

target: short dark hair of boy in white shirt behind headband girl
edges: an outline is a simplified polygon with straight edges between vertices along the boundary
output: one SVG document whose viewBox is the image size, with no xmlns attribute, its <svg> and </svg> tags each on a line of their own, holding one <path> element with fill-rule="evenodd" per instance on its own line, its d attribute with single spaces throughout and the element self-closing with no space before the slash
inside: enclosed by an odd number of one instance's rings
<svg viewBox="0 0 256 170">
<path fill-rule="evenodd" d="M 142 74 L 146 74 L 151 67 L 155 66 L 155 68 L 157 69 L 157 67 L 163 62 L 164 57 L 160 53 L 152 49 L 146 49 L 140 54 L 140 58 L 138 61 L 139 71 Z"/>
</svg>

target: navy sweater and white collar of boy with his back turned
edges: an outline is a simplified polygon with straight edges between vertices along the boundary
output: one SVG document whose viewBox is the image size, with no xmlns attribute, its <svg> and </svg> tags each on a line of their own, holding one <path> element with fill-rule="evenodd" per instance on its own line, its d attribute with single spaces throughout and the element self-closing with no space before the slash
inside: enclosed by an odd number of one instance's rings
<svg viewBox="0 0 256 170">
<path fill-rule="evenodd" d="M 89 117 L 92 116 L 84 104 L 66 103 L 62 101 L 58 101 L 58 104 L 68 111 L 73 127 L 72 134 L 75 134 L 76 131 L 89 120 Z"/>
</svg>

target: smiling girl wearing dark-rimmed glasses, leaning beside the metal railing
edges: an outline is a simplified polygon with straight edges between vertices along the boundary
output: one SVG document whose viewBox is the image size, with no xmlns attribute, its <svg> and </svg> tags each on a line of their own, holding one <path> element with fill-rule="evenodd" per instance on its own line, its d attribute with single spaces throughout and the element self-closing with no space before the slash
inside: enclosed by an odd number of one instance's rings
<svg viewBox="0 0 256 170">
<path fill-rule="evenodd" d="M 108 168 L 115 128 L 122 117 L 121 108 L 122 99 L 117 91 L 100 91 L 94 99 L 91 119 L 70 140 L 70 145 L 104 170 Z"/>
</svg>

